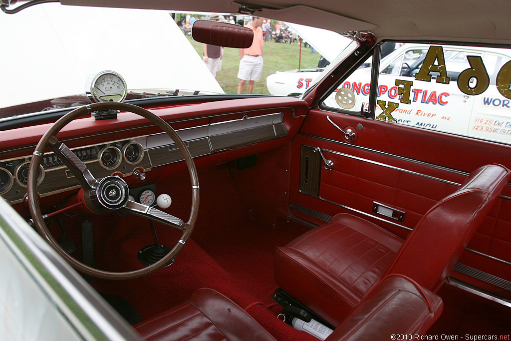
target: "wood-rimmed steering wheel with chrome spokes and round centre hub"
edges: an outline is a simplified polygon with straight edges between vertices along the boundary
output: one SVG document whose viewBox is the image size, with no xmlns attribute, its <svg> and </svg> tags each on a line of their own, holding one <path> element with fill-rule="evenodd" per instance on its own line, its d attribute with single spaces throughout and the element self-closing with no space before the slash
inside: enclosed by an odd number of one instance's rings
<svg viewBox="0 0 511 341">
<path fill-rule="evenodd" d="M 66 145 L 57 140 L 57 133 L 66 124 L 73 121 L 74 119 L 94 111 L 111 109 L 129 111 L 148 119 L 161 130 L 165 131 L 177 145 L 181 151 L 182 156 L 184 157 L 184 162 L 188 167 L 188 172 L 190 173 L 190 179 L 192 183 L 192 209 L 188 222 L 184 223 L 183 220 L 176 218 L 166 212 L 160 211 L 154 207 L 146 206 L 142 203 L 129 200 L 129 188 L 124 179 L 114 175 L 96 179 L 90 173 L 87 166 L 69 148 L 67 148 Z M 55 155 L 60 158 L 60 160 L 67 166 L 69 170 L 73 172 L 77 178 L 80 186 L 83 189 L 83 198 L 80 200 L 88 210 L 97 214 L 111 213 L 113 211 L 120 210 L 124 213 L 146 217 L 181 231 L 182 235 L 180 240 L 171 249 L 171 251 L 158 262 L 141 269 L 127 272 L 100 270 L 94 267 L 90 267 L 69 256 L 59 245 L 59 243 L 55 241 L 52 234 L 48 230 L 46 224 L 44 223 L 41 209 L 39 207 L 39 199 L 37 196 L 37 175 L 39 172 L 39 165 L 42 161 L 42 155 L 48 148 L 50 148 L 55 153 Z M 67 113 L 57 122 L 55 122 L 43 135 L 34 151 L 34 154 L 32 155 L 28 174 L 27 194 L 30 213 L 32 214 L 32 218 L 36 225 L 37 231 L 41 234 L 41 236 L 74 268 L 78 269 L 84 274 L 103 279 L 124 280 L 142 277 L 168 264 L 172 259 L 175 258 L 179 251 L 181 251 L 181 248 L 184 246 L 192 234 L 199 212 L 199 182 L 197 178 L 197 169 L 195 168 L 192 155 L 190 155 L 190 152 L 184 145 L 183 140 L 167 122 L 154 115 L 154 113 L 128 103 L 104 102 L 82 106 Z"/>
</svg>

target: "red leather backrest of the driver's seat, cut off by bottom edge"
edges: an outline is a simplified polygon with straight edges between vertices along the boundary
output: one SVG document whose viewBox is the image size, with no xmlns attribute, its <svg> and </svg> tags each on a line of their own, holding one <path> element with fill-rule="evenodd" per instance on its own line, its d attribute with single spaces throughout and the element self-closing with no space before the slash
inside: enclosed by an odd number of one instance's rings
<svg viewBox="0 0 511 341">
<path fill-rule="evenodd" d="M 444 304 L 409 278 L 389 275 L 373 287 L 326 341 L 390 340 L 424 334 Z"/>
</svg>

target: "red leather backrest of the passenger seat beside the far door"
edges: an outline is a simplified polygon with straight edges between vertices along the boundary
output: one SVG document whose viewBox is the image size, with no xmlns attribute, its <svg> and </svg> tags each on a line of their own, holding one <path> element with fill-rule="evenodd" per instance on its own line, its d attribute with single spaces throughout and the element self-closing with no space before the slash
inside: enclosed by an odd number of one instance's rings
<svg viewBox="0 0 511 341">
<path fill-rule="evenodd" d="M 438 290 L 509 180 L 501 165 L 473 171 L 417 223 L 386 274 L 402 274 Z"/>
</svg>

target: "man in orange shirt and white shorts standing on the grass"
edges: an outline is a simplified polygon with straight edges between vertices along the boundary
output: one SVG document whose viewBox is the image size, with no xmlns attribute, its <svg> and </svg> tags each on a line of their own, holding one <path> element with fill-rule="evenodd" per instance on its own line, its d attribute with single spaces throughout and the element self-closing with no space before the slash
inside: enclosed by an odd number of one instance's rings
<svg viewBox="0 0 511 341">
<path fill-rule="evenodd" d="M 238 71 L 238 94 L 243 93 L 245 84 L 247 85 L 247 94 L 251 94 L 254 81 L 261 78 L 263 72 L 263 18 L 254 16 L 252 22 L 246 27 L 254 32 L 254 40 L 248 49 L 240 49 L 240 69 Z"/>
</svg>

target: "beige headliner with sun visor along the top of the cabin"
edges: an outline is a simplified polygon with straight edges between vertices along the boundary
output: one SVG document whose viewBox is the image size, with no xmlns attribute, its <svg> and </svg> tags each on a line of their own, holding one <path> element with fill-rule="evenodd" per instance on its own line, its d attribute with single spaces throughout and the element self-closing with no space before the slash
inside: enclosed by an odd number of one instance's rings
<svg viewBox="0 0 511 341">
<path fill-rule="evenodd" d="M 378 40 L 418 39 L 511 43 L 511 2 L 501 0 L 61 0 L 64 5 L 236 13 L 336 32 L 373 32 Z M 313 6 L 313 7 L 311 7 Z"/>
</svg>

